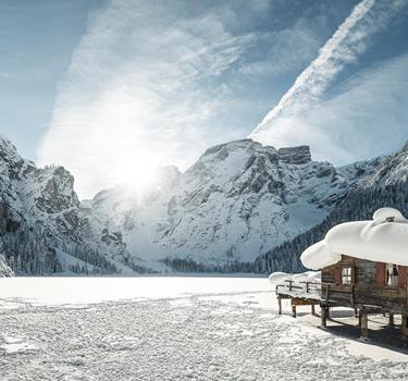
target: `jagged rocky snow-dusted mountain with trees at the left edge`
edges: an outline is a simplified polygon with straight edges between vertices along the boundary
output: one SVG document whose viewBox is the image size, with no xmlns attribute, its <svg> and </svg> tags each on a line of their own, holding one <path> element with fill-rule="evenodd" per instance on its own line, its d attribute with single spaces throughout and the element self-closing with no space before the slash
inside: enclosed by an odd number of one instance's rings
<svg viewBox="0 0 408 381">
<path fill-rule="evenodd" d="M 38 169 L 0 137 L 0 254 L 16 272 L 131 271 L 120 235 L 88 233 L 74 177 L 62 167 Z"/>
</svg>

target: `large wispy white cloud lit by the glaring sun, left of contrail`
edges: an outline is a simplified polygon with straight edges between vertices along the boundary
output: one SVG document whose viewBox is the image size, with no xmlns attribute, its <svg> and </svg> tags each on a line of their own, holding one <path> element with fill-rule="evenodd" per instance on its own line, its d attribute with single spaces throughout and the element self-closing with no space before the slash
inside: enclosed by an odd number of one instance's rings
<svg viewBox="0 0 408 381">
<path fill-rule="evenodd" d="M 73 172 L 81 196 L 137 180 L 156 165 L 185 167 L 208 145 L 232 137 L 206 128 L 230 102 L 222 81 L 211 81 L 254 35 L 230 33 L 225 7 L 188 16 L 183 7 L 116 0 L 90 21 L 38 150 L 40 164 Z"/>
</svg>

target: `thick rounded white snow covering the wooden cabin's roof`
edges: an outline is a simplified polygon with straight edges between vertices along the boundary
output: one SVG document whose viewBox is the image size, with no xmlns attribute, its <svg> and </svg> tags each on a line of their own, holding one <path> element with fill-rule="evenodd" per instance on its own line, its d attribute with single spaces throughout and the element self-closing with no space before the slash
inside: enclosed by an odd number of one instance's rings
<svg viewBox="0 0 408 381">
<path fill-rule="evenodd" d="M 371 221 L 332 228 L 323 241 L 301 254 L 300 260 L 305 267 L 318 270 L 337 263 L 342 254 L 408 266 L 408 220 L 397 209 L 379 209 Z"/>
</svg>

